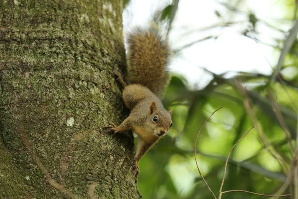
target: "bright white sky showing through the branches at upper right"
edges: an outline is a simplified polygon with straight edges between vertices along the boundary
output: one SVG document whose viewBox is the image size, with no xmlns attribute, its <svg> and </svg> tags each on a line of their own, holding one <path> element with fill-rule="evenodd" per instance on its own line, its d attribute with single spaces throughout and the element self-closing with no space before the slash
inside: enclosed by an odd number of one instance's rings
<svg viewBox="0 0 298 199">
<path fill-rule="evenodd" d="M 219 37 L 216 40 L 198 42 L 182 50 L 172 61 L 171 71 L 182 74 L 190 85 L 197 84 L 199 87 L 204 86 L 209 79 L 208 74 L 200 67 L 217 74 L 226 71 L 270 74 L 271 67 L 274 67 L 278 61 L 279 52 L 262 42 L 275 46 L 277 44 L 273 38 L 283 39 L 284 35 L 263 23 L 257 25 L 257 31 L 261 34 L 251 34 L 260 42 L 241 35 L 244 27 L 247 27 L 245 15 L 229 11 L 219 2 L 218 0 L 180 0 L 170 34 L 170 44 L 174 50 L 206 36 Z M 242 0 L 241 2 L 240 9 L 243 13 L 247 14 L 253 10 L 257 18 L 270 24 L 281 23 L 277 20 L 283 18 L 285 14 L 285 5 L 277 0 Z M 131 0 L 123 13 L 124 31 L 135 25 L 146 25 L 154 11 L 167 3 L 168 0 Z M 215 10 L 223 17 L 217 17 Z M 202 30 L 226 21 L 240 23 L 229 28 Z M 291 23 L 284 22 L 278 27 L 287 31 L 290 26 Z"/>
</svg>

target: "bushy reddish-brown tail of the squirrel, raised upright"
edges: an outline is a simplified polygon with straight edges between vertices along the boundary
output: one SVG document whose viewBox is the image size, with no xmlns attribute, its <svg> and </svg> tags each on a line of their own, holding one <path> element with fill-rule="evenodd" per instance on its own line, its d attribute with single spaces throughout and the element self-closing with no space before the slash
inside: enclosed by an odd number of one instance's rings
<svg viewBox="0 0 298 199">
<path fill-rule="evenodd" d="M 128 81 L 149 88 L 156 96 L 161 96 L 170 77 L 168 62 L 170 48 L 158 27 L 136 27 L 127 36 Z"/>
</svg>

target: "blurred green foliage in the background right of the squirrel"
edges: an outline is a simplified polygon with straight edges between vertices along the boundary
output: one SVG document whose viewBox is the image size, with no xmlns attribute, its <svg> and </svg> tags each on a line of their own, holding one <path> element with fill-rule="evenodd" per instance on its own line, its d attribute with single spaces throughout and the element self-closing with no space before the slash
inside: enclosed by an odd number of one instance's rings
<svg viewBox="0 0 298 199">
<path fill-rule="evenodd" d="M 166 20 L 168 30 L 179 9 L 178 2 L 173 1 L 160 10 L 159 15 L 155 14 L 161 21 Z M 239 12 L 239 1 L 232 2 L 219 3 L 230 12 Z M 292 10 L 296 9 L 294 6 L 294 1 L 289 3 Z M 222 17 L 219 11 L 215 14 Z M 251 32 L 258 23 L 264 22 L 253 12 L 246 16 L 250 23 L 242 33 L 252 37 Z M 232 23 L 228 21 L 226 26 Z M 191 88 L 181 76 L 172 77 L 163 99 L 168 109 L 173 108 L 170 135 L 152 147 L 139 164 L 138 186 L 144 199 L 214 198 L 197 170 L 194 143 L 199 129 L 220 106 L 224 108 L 208 121 L 197 141 L 198 164 L 208 185 L 219 196 L 230 148 L 255 125 L 231 153 L 223 191 L 278 193 L 287 176 L 293 175 L 290 167 L 298 125 L 297 32 L 296 21 L 293 28 L 285 32 L 282 47 L 275 47 L 280 52 L 280 59 L 272 75 L 240 72 L 227 77 L 227 74 L 217 75 L 204 69 L 212 80 L 202 89 Z M 292 183 L 279 194 L 294 194 L 293 191 Z M 223 195 L 223 199 L 258 198 L 260 196 L 240 192 Z"/>
</svg>

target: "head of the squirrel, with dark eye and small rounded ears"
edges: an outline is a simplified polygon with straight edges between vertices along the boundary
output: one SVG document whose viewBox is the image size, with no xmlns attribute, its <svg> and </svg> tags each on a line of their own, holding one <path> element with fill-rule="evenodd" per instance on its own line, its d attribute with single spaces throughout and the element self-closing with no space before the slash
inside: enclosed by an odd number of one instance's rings
<svg viewBox="0 0 298 199">
<path fill-rule="evenodd" d="M 157 108 L 156 102 L 153 101 L 150 105 L 150 115 L 148 119 L 150 120 L 149 128 L 158 137 L 165 135 L 170 127 L 172 126 L 172 109 L 169 111 L 164 108 Z"/>
</svg>

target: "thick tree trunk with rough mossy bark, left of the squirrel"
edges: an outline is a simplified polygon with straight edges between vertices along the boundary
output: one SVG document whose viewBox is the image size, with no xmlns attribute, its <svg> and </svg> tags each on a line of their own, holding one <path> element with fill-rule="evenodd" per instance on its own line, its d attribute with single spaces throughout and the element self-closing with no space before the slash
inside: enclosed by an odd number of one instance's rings
<svg viewBox="0 0 298 199">
<path fill-rule="evenodd" d="M 120 0 L 0 0 L 0 198 L 140 198 Z"/>
</svg>

